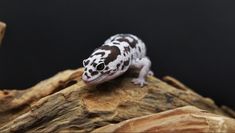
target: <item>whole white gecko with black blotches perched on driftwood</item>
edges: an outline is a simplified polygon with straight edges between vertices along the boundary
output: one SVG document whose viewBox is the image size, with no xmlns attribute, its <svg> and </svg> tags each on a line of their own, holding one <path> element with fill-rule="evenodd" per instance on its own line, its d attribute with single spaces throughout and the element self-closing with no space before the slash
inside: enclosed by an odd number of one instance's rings
<svg viewBox="0 0 235 133">
<path fill-rule="evenodd" d="M 117 34 L 110 37 L 105 43 L 94 50 L 87 59 L 83 60 L 85 83 L 93 85 L 112 80 L 129 68 L 140 70 L 139 77 L 132 80 L 134 84 L 143 87 L 147 82 L 151 61 L 146 56 L 144 42 L 131 34 Z"/>
</svg>

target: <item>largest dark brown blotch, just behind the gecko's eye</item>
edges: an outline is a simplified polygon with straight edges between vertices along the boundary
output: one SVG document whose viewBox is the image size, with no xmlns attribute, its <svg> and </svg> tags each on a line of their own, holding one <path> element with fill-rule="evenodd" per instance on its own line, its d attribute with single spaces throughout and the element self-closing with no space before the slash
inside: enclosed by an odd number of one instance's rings
<svg viewBox="0 0 235 133">
<path fill-rule="evenodd" d="M 103 45 L 100 47 L 102 50 L 110 50 L 111 53 L 106 57 L 105 65 L 117 59 L 117 56 L 121 54 L 120 49 L 117 46 Z"/>
</svg>

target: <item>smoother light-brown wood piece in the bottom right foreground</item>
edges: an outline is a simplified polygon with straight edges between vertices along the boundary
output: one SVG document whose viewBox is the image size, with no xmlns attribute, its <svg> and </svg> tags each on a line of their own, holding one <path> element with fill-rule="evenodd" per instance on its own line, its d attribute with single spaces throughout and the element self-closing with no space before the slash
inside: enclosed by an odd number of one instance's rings
<svg viewBox="0 0 235 133">
<path fill-rule="evenodd" d="M 215 115 L 194 106 L 110 124 L 93 133 L 234 133 L 235 119 Z"/>
</svg>

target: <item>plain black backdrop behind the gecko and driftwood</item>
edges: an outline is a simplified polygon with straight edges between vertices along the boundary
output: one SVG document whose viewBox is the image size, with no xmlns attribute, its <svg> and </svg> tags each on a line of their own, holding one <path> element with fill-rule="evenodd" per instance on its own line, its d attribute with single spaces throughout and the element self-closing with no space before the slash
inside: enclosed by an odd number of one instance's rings
<svg viewBox="0 0 235 133">
<path fill-rule="evenodd" d="M 158 77 L 171 75 L 235 109 L 234 0 L 1 0 L 8 24 L 0 88 L 27 88 L 81 67 L 109 36 L 146 43 Z"/>
</svg>

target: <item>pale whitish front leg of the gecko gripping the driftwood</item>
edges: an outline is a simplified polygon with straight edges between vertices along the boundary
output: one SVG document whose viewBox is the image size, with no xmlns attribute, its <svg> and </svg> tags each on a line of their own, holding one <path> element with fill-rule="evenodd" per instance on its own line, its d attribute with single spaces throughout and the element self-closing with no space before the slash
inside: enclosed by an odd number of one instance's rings
<svg viewBox="0 0 235 133">
<path fill-rule="evenodd" d="M 131 67 L 140 69 L 139 77 L 134 78 L 132 82 L 134 84 L 139 84 L 141 87 L 147 84 L 147 82 L 145 81 L 146 76 L 148 74 L 153 74 L 152 71 L 150 71 L 151 61 L 149 60 L 149 58 L 137 58 L 136 60 L 132 61 Z"/>
</svg>

